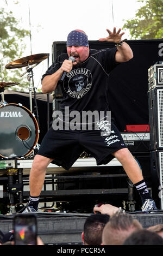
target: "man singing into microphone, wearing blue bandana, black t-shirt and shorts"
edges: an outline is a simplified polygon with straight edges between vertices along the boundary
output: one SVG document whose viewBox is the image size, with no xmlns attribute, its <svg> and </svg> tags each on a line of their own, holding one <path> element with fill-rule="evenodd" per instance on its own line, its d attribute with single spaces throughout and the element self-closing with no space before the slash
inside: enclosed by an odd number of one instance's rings
<svg viewBox="0 0 163 256">
<path fill-rule="evenodd" d="M 67 37 L 67 53 L 63 53 L 48 68 L 42 76 L 42 92 L 49 93 L 61 86 L 63 99 L 61 102 L 62 122 L 60 129 L 52 126 L 42 140 L 30 171 L 30 198 L 24 212 L 35 212 L 39 204 L 39 197 L 45 180 L 46 168 L 53 162 L 66 170 L 70 169 L 83 151 L 95 157 L 97 165 L 107 164 L 116 157 L 122 164 L 126 174 L 139 191 L 142 200 L 142 211 L 156 210 L 155 202 L 148 192 L 139 164 L 124 144 L 121 133 L 114 122 L 107 120 L 109 111 L 107 93 L 111 84 L 108 78 L 112 69 L 118 63 L 127 62 L 133 58 L 130 46 L 121 40 L 124 32 L 121 29 L 113 32 L 106 29 L 108 37 L 100 41 L 112 41 L 112 49 L 91 50 L 84 31 L 76 29 Z M 70 56 L 72 59 L 68 59 Z M 60 83 L 63 73 L 66 72 L 64 81 Z M 65 114 L 68 108 L 70 116 Z M 103 112 L 104 118 L 98 121 L 94 118 L 92 128 L 89 121 L 86 126 L 78 129 L 65 124 L 72 124 L 72 114 L 78 112 L 78 123 L 83 123 L 85 112 Z M 66 121 L 65 121 L 66 120 Z M 62 128 L 66 127 L 66 128 Z M 103 132 L 104 129 L 104 132 Z"/>
</svg>

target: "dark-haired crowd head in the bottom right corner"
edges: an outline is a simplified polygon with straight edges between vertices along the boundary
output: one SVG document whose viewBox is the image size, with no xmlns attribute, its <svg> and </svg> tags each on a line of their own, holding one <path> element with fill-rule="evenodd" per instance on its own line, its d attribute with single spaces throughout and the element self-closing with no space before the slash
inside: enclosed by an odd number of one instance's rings
<svg viewBox="0 0 163 256">
<path fill-rule="evenodd" d="M 142 229 L 128 236 L 123 245 L 163 245 L 163 239 L 153 231 Z"/>
</svg>

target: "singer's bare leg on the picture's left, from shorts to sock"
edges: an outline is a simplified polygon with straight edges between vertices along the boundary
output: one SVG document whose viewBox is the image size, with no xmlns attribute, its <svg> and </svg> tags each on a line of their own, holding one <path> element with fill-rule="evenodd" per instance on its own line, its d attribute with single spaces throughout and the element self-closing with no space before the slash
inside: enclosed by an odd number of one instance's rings
<svg viewBox="0 0 163 256">
<path fill-rule="evenodd" d="M 38 197 L 45 180 L 46 168 L 53 159 L 36 154 L 29 176 L 29 189 L 32 197 Z"/>
</svg>

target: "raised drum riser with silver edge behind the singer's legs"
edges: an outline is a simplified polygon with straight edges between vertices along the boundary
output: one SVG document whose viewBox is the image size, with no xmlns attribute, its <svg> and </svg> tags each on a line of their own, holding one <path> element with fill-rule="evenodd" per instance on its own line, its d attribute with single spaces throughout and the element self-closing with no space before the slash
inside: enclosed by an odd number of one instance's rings
<svg viewBox="0 0 163 256">
<path fill-rule="evenodd" d="M 145 161 L 148 162 L 148 158 Z M 28 202 L 29 173 L 32 163 L 33 159 L 3 159 L 0 161 L 0 202 L 4 205 L 9 207 Z M 148 165 L 143 168 L 144 170 L 147 171 L 143 176 L 147 177 L 148 190 L 152 193 L 155 188 L 152 190 Z M 22 183 L 23 188 L 16 190 L 16 196 L 8 189 L 8 184 L 16 189 L 17 184 Z M 69 210 L 81 210 L 81 205 L 85 205 L 86 211 L 80 212 L 90 212 L 92 206 L 99 202 L 115 206 L 123 204 L 122 207 L 126 206 L 124 209 L 133 212 L 141 208 L 139 207 L 141 202 L 132 187 L 121 163 L 116 158 L 108 164 L 98 166 L 95 158 L 79 158 L 68 171 L 55 164 L 48 165 L 40 203 L 61 203 L 62 210 L 66 207 L 68 212 Z M 158 199 L 158 194 L 156 196 Z M 70 202 L 70 205 L 65 205 L 65 202 Z M 156 204 L 160 208 L 159 202 Z M 17 211 L 8 208 L 0 210 L 3 215 Z"/>
</svg>

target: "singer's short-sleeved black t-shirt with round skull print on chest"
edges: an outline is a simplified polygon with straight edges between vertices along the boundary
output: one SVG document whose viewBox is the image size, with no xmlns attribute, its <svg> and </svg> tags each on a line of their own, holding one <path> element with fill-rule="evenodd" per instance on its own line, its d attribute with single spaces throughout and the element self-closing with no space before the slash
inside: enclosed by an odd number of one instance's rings
<svg viewBox="0 0 163 256">
<path fill-rule="evenodd" d="M 64 82 L 58 84 L 61 86 L 63 99 L 60 109 L 62 112 L 65 106 L 69 107 L 69 111 L 107 111 L 108 106 L 108 77 L 112 69 L 118 63 L 115 61 L 115 53 L 117 48 L 91 50 L 89 57 L 81 64 L 76 65 L 70 73 L 66 74 Z M 63 53 L 57 57 L 52 66 L 42 76 L 55 73 L 62 65 L 62 62 L 68 59 L 67 53 Z"/>
</svg>

